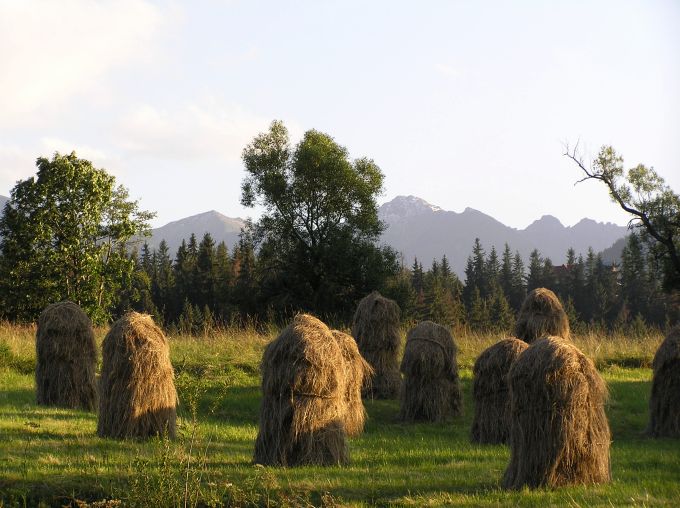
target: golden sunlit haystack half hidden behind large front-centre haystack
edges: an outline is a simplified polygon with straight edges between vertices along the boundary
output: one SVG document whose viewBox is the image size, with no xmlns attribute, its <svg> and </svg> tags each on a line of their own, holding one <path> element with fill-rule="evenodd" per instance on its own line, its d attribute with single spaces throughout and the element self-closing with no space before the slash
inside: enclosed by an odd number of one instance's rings
<svg viewBox="0 0 680 508">
<path fill-rule="evenodd" d="M 333 330 L 333 337 L 340 345 L 345 360 L 344 376 L 347 380 L 345 390 L 345 431 L 348 436 L 358 436 L 364 430 L 366 410 L 361 400 L 361 389 L 370 383 L 373 369 L 359 353 L 357 343 L 351 336 L 338 330 Z"/>
</svg>

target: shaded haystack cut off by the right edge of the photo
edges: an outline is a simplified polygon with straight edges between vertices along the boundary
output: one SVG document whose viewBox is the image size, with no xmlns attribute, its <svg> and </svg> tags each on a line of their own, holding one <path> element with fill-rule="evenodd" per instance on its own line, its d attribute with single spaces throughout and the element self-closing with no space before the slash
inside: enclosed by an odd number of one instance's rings
<svg viewBox="0 0 680 508">
<path fill-rule="evenodd" d="M 659 346 L 652 369 L 647 433 L 652 437 L 680 437 L 680 325 Z"/>
</svg>

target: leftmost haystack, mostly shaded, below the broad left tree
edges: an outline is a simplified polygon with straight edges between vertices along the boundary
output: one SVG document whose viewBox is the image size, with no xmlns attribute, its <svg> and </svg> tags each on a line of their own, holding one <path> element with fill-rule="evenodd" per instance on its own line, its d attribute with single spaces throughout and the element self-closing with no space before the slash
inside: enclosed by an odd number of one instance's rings
<svg viewBox="0 0 680 508">
<path fill-rule="evenodd" d="M 92 322 L 78 305 L 49 305 L 35 340 L 38 404 L 92 411 L 97 407 L 97 346 Z"/>
</svg>

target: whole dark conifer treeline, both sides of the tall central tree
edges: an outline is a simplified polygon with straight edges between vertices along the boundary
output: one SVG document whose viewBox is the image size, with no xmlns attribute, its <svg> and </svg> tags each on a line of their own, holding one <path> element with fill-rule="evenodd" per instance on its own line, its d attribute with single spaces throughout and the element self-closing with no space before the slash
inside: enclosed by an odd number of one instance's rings
<svg viewBox="0 0 680 508">
<path fill-rule="evenodd" d="M 174 256 L 163 241 L 158 250 L 145 244 L 131 259 L 135 269 L 124 283 L 118 313 L 127 308 L 148 312 L 181 333 L 283 322 L 300 310 L 281 309 L 271 301 L 266 263 L 247 234 L 231 251 L 223 242 L 215 244 L 210 234 L 200 242 L 192 235 Z M 416 259 L 410 267 L 397 264 L 390 271 L 377 289 L 399 303 L 405 321 L 430 319 L 475 331 L 509 331 L 527 292 L 537 287 L 559 295 L 577 328 L 644 331 L 648 325 L 665 326 L 673 308 L 661 291 L 661 268 L 635 234 L 628 238 L 620 265 L 605 264 L 592 249 L 585 257 L 569 249 L 560 266 L 534 250 L 525 265 L 508 245 L 499 255 L 493 247 L 487 253 L 476 240 L 465 281 L 446 256 L 427 269 Z"/>
</svg>

